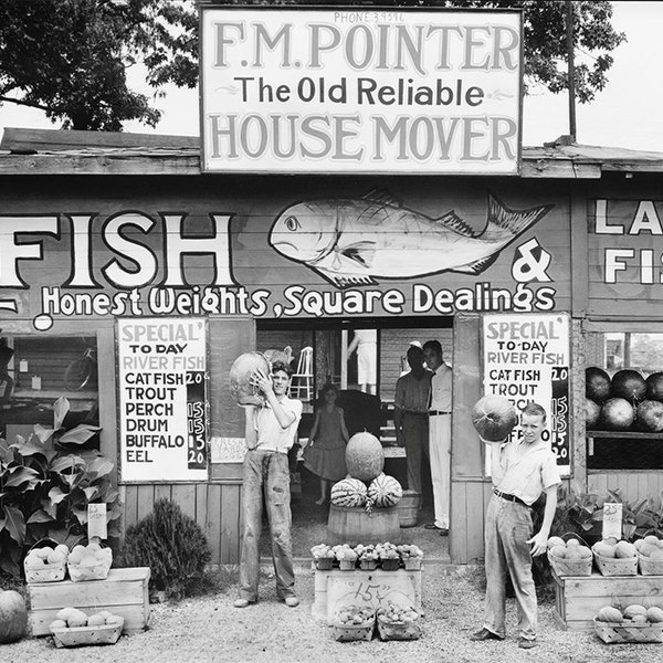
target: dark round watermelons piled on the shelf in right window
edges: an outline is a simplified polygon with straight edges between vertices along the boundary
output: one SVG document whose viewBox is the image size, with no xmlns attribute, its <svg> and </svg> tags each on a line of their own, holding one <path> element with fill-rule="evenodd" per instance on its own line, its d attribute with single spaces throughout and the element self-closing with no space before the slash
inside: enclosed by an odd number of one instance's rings
<svg viewBox="0 0 663 663">
<path fill-rule="evenodd" d="M 602 368 L 585 371 L 585 423 L 598 431 L 663 431 L 663 372 L 644 377 L 627 368 L 612 378 Z"/>
</svg>

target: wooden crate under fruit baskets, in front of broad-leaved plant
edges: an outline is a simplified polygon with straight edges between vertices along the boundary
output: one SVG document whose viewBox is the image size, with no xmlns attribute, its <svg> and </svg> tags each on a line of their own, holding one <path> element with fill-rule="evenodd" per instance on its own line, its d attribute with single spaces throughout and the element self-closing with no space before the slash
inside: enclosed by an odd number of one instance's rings
<svg viewBox="0 0 663 663">
<path fill-rule="evenodd" d="M 105 580 L 35 582 L 28 585 L 33 635 L 50 635 L 50 623 L 62 608 L 86 614 L 109 610 L 124 617 L 123 632 L 143 631 L 149 621 L 149 568 L 110 569 Z"/>
</svg>

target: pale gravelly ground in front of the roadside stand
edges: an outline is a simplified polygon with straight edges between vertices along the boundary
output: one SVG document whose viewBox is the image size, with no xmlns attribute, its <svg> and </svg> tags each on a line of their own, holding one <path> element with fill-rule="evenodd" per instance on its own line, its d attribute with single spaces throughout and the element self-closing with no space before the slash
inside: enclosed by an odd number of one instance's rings
<svg viewBox="0 0 663 663">
<path fill-rule="evenodd" d="M 554 601 L 539 604 L 539 646 L 525 651 L 515 638 L 515 602 L 507 606 L 507 640 L 474 643 L 481 625 L 483 572 L 461 568 L 424 569 L 423 635 L 410 642 L 336 642 L 333 630 L 312 614 L 314 572 L 297 573 L 298 608 L 276 599 L 274 580 L 265 572 L 260 601 L 243 610 L 232 607 L 236 573 L 223 589 L 179 603 L 152 606 L 151 628 L 123 636 L 115 645 L 56 649 L 50 638 L 27 639 L 0 646 L 2 663 L 649 663 L 661 660 L 661 644 L 606 645 L 592 632 L 564 631 L 554 621 Z"/>
</svg>

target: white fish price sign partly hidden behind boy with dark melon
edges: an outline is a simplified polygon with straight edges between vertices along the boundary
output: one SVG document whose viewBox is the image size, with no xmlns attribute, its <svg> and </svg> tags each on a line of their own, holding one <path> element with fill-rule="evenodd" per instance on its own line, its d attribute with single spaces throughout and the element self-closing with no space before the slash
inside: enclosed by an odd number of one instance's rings
<svg viewBox="0 0 663 663">
<path fill-rule="evenodd" d="M 503 396 L 522 410 L 537 402 L 548 413 L 544 439 L 550 440 L 560 474 L 570 474 L 569 316 L 496 314 L 484 316 L 484 393 Z M 512 439 L 520 434 L 517 425 Z"/>
</svg>

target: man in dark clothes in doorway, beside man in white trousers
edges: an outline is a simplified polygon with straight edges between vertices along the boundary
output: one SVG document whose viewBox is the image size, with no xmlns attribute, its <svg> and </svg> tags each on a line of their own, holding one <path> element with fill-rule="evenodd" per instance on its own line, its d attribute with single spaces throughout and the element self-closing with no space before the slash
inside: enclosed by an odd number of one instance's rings
<svg viewBox="0 0 663 663">
<path fill-rule="evenodd" d="M 406 448 L 408 488 L 421 495 L 421 459 L 429 455 L 431 372 L 423 367 L 423 350 L 415 345 L 408 349 L 408 364 L 410 371 L 396 382 L 393 423 L 396 441 Z"/>
</svg>

